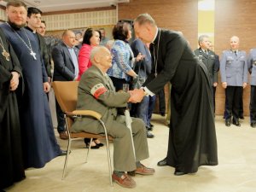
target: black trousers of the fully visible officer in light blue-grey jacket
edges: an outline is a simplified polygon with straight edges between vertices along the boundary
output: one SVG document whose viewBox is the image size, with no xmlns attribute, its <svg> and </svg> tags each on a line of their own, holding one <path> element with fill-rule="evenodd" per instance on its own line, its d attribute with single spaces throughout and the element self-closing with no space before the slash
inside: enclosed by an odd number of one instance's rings
<svg viewBox="0 0 256 192">
<path fill-rule="evenodd" d="M 225 105 L 225 119 L 239 119 L 241 111 L 242 87 L 241 86 L 227 86 L 225 90 L 226 105 Z"/>
</svg>

